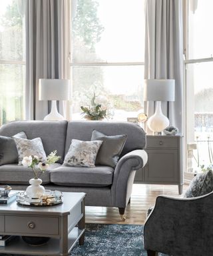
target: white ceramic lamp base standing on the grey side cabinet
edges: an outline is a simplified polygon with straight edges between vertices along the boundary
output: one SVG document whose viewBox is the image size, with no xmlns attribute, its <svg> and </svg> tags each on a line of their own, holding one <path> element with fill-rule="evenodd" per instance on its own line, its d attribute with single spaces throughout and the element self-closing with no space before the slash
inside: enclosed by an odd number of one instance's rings
<svg viewBox="0 0 213 256">
<path fill-rule="evenodd" d="M 156 101 L 156 110 L 147 121 L 148 128 L 153 132 L 153 135 L 161 134 L 169 125 L 168 118 L 162 113 L 161 101 Z"/>
</svg>

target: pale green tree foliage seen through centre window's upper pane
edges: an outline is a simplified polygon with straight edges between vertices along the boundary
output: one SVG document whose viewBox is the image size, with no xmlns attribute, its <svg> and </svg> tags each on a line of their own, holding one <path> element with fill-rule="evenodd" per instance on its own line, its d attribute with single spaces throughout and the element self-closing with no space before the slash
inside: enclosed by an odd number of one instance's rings
<svg viewBox="0 0 213 256">
<path fill-rule="evenodd" d="M 94 49 L 95 43 L 101 40 L 101 33 L 104 30 L 97 16 L 98 6 L 95 0 L 79 0 L 73 21 L 74 35 L 83 39 L 90 49 Z"/>
</svg>

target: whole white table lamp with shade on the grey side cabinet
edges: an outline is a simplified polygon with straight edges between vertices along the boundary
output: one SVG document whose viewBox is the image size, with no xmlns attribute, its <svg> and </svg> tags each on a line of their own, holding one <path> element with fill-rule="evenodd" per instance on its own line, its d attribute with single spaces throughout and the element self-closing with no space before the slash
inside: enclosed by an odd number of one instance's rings
<svg viewBox="0 0 213 256">
<path fill-rule="evenodd" d="M 174 79 L 144 80 L 144 101 L 156 101 L 154 115 L 148 118 L 148 128 L 153 135 L 161 134 L 168 127 L 169 120 L 162 113 L 161 101 L 174 101 Z"/>
</svg>

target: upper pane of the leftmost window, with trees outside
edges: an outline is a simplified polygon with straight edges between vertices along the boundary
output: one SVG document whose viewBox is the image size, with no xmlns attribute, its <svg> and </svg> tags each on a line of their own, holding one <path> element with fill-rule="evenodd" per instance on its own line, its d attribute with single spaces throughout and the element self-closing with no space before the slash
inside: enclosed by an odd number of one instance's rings
<svg viewBox="0 0 213 256">
<path fill-rule="evenodd" d="M 0 4 L 0 59 L 24 60 L 24 0 L 1 1 Z"/>
</svg>

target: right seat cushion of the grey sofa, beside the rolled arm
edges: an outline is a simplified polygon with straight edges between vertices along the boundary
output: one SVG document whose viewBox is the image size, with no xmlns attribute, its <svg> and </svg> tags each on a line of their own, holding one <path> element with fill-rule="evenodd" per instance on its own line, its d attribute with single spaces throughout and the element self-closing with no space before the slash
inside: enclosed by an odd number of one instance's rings
<svg viewBox="0 0 213 256">
<path fill-rule="evenodd" d="M 108 166 L 59 167 L 51 171 L 51 182 L 61 186 L 106 187 L 112 184 L 114 169 Z"/>
</svg>

